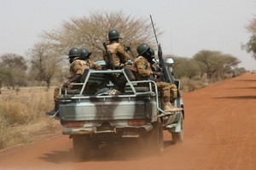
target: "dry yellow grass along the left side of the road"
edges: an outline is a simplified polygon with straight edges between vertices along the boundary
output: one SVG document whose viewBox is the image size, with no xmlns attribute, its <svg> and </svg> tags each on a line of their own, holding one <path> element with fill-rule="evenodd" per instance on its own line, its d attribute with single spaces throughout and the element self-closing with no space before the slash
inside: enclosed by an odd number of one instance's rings
<svg viewBox="0 0 256 170">
<path fill-rule="evenodd" d="M 45 116 L 53 108 L 53 88 L 2 89 L 0 94 L 0 150 L 27 144 L 61 130 Z"/>
</svg>

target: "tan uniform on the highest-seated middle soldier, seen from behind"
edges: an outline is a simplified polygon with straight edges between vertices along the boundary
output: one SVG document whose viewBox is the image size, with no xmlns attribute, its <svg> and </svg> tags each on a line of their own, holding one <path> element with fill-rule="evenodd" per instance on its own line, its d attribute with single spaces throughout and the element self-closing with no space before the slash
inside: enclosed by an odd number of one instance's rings
<svg viewBox="0 0 256 170">
<path fill-rule="evenodd" d="M 112 55 L 113 58 L 113 67 L 114 69 L 124 68 L 125 63 L 128 59 L 131 59 L 131 55 L 125 52 L 125 48 L 119 42 L 110 42 L 107 45 L 108 51 Z M 106 51 L 103 51 L 103 58 L 106 61 L 107 65 L 109 65 L 108 54 Z"/>
</svg>

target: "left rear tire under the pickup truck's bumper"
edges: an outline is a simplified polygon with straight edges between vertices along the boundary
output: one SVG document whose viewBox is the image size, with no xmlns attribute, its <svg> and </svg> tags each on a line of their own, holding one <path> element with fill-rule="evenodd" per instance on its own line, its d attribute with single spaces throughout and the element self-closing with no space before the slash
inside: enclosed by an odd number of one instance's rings
<svg viewBox="0 0 256 170">
<path fill-rule="evenodd" d="M 79 159 L 89 158 L 92 144 L 89 136 L 73 135 L 73 150 Z"/>
</svg>

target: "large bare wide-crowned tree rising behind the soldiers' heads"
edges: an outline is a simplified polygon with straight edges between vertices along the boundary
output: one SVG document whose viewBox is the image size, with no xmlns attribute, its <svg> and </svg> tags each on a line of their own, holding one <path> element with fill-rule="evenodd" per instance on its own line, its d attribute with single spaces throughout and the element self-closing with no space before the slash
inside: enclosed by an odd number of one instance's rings
<svg viewBox="0 0 256 170">
<path fill-rule="evenodd" d="M 108 31 L 111 29 L 119 31 L 123 44 L 129 45 L 131 42 L 133 54 L 139 43 L 147 42 L 152 45 L 154 42 L 154 32 L 149 20 L 125 16 L 122 11 L 99 12 L 90 14 L 89 17 L 73 18 L 63 22 L 61 28 L 44 31 L 42 37 L 49 42 L 57 56 L 67 55 L 70 48 L 83 47 L 90 49 L 94 60 L 101 60 L 104 49 L 102 43 L 108 42 Z"/>
</svg>

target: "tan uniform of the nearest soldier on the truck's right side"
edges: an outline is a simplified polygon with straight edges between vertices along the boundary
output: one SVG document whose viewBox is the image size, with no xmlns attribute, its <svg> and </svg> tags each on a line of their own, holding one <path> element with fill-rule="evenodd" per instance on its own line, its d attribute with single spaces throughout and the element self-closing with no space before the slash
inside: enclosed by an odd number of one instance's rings
<svg viewBox="0 0 256 170">
<path fill-rule="evenodd" d="M 137 80 L 147 80 L 148 77 L 153 76 L 150 63 L 142 55 L 134 60 L 131 70 L 134 72 Z M 165 107 L 165 111 L 173 111 L 173 106 L 170 103 L 171 88 L 176 88 L 176 86 L 168 82 L 156 82 L 156 85 L 161 93 L 161 102 Z"/>
</svg>

